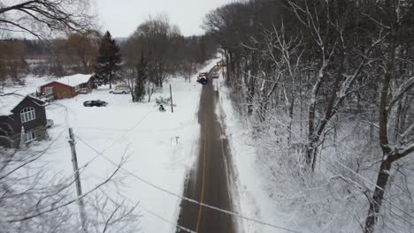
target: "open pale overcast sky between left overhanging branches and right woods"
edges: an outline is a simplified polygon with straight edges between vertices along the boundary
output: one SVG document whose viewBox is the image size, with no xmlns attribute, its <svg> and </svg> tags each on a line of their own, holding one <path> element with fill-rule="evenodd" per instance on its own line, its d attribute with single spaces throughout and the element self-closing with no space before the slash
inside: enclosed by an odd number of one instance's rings
<svg viewBox="0 0 414 233">
<path fill-rule="evenodd" d="M 94 0 L 103 30 L 114 37 L 126 37 L 149 15 L 166 13 L 180 27 L 181 34 L 203 34 L 206 13 L 234 0 Z"/>
</svg>

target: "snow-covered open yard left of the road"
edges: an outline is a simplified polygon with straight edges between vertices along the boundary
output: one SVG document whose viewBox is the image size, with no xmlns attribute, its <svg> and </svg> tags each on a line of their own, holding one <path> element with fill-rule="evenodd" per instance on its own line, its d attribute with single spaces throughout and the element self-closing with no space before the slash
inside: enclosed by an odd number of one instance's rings
<svg viewBox="0 0 414 233">
<path fill-rule="evenodd" d="M 215 62 L 203 71 L 210 70 Z M 4 91 L 32 93 L 35 86 L 47 80 L 28 78 L 27 86 Z M 176 107 L 173 113 L 170 106 L 160 112 L 155 100 L 159 96 L 169 97 L 169 84 L 173 87 Z M 191 83 L 177 78 L 165 83 L 150 102 L 134 103 L 130 94 L 109 94 L 105 87 L 73 99 L 53 101 L 47 107 L 47 117 L 55 123 L 49 130 L 50 141 L 34 142 L 32 147 L 50 147 L 42 162 L 50 167 L 51 174 L 71 175 L 73 167 L 67 139 L 68 128 L 72 127 L 84 192 L 111 175 L 116 169 L 112 162 L 119 163 L 126 158 L 125 170 L 119 171 L 117 189 L 107 192 L 118 193 L 130 204 L 140 203 L 142 232 L 174 232 L 180 199 L 139 178 L 169 192 L 182 193 L 186 173 L 196 159 L 200 133 L 196 113 L 202 88 L 195 78 Z M 89 100 L 109 104 L 102 108 L 84 107 L 83 101 Z"/>
</svg>

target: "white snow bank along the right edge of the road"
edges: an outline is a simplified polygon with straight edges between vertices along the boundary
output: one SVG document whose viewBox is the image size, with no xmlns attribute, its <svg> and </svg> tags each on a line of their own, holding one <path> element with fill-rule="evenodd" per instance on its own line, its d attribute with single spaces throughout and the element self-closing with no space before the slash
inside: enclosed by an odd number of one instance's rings
<svg viewBox="0 0 414 233">
<path fill-rule="evenodd" d="M 260 176 L 260 171 L 257 170 L 259 167 L 256 166 L 256 148 L 254 141 L 249 138 L 249 125 L 243 123 L 235 112 L 230 99 L 230 90 L 223 85 L 222 75 L 217 83 L 219 104 L 216 111 L 221 118 L 223 129 L 226 130 L 234 162 L 234 181 L 231 183 L 234 204 L 237 205 L 234 211 L 291 229 L 292 227 L 288 226 L 288 218 L 291 216 L 278 212 L 272 197 L 269 197 L 266 192 L 265 177 Z M 237 222 L 240 232 L 286 232 L 256 222 L 241 219 L 237 219 Z"/>
</svg>

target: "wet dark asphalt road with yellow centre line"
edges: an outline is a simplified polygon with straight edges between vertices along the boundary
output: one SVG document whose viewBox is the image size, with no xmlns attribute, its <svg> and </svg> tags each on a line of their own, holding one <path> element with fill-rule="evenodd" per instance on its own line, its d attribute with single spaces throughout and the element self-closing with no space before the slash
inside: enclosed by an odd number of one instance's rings
<svg viewBox="0 0 414 233">
<path fill-rule="evenodd" d="M 218 68 L 211 70 L 215 71 Z M 211 74 L 210 72 L 210 74 Z M 211 76 L 211 75 L 209 75 Z M 232 199 L 228 188 L 231 154 L 219 117 L 215 113 L 219 92 L 214 91 L 212 81 L 203 86 L 198 112 L 201 124 L 199 155 L 196 168 L 188 174 L 183 195 L 207 205 L 232 211 Z M 202 207 L 186 200 L 181 201 L 178 224 L 199 233 L 234 233 L 234 219 L 231 215 Z M 188 232 L 177 229 L 177 232 Z"/>
</svg>

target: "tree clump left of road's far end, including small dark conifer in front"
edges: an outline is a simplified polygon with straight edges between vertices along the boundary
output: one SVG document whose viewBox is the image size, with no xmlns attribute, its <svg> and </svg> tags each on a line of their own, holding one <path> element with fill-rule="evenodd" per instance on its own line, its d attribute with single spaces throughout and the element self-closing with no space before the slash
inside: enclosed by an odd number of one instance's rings
<svg viewBox="0 0 414 233">
<path fill-rule="evenodd" d="M 190 81 L 204 62 L 217 52 L 208 35 L 185 37 L 165 15 L 142 22 L 134 34 L 121 43 L 121 81 L 131 91 L 133 101 L 148 101 L 157 87 L 173 76 Z"/>
</svg>

